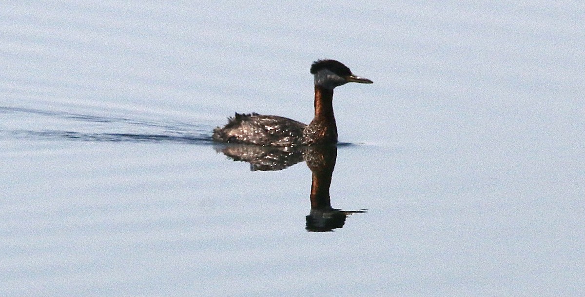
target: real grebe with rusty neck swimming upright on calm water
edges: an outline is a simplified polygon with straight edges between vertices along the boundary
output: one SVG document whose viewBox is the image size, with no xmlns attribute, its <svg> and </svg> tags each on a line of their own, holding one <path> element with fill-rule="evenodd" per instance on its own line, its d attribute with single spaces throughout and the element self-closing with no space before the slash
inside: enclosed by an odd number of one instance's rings
<svg viewBox="0 0 585 297">
<path fill-rule="evenodd" d="M 305 125 L 281 116 L 236 113 L 225 127 L 214 129 L 213 139 L 227 143 L 258 146 L 311 146 L 337 143 L 337 126 L 333 116 L 333 89 L 347 82 L 371 84 L 357 77 L 336 60 L 318 60 L 311 65 L 315 78 L 315 118 Z"/>
</svg>

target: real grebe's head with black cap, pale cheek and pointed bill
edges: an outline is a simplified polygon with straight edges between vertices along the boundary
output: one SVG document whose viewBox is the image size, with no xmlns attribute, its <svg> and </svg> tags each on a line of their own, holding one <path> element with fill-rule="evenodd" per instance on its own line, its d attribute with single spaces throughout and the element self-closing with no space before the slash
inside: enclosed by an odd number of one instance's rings
<svg viewBox="0 0 585 297">
<path fill-rule="evenodd" d="M 318 60 L 311 65 L 311 74 L 315 75 L 315 85 L 326 89 L 334 89 L 347 82 L 371 84 L 367 78 L 358 77 L 352 71 L 336 60 Z"/>
</svg>

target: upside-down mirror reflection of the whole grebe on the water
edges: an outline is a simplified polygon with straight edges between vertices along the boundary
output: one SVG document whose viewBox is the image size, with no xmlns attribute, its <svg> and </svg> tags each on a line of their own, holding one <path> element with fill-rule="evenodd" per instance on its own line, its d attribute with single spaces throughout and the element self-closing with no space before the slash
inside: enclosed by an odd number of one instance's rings
<svg viewBox="0 0 585 297">
<path fill-rule="evenodd" d="M 305 217 L 309 232 L 326 232 L 343 227 L 352 213 L 366 210 L 341 210 L 331 207 L 331 178 L 335 169 L 337 146 L 260 147 L 228 145 L 216 148 L 235 161 L 250 163 L 250 170 L 282 170 L 306 161 L 312 173 L 311 212 Z"/>
</svg>

